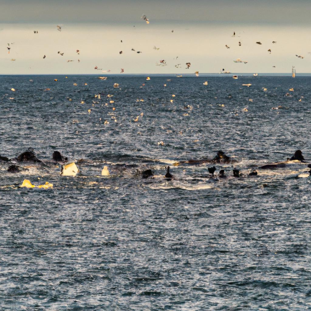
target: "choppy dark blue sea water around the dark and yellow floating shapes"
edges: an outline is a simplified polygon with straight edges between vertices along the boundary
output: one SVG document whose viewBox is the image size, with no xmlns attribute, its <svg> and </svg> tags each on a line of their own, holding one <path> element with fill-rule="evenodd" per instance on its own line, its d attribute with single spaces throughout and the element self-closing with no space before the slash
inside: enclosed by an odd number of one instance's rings
<svg viewBox="0 0 311 311">
<path fill-rule="evenodd" d="M 0 310 L 310 310 L 307 165 L 257 169 L 311 160 L 310 79 L 0 76 L 0 154 L 43 160 L 0 161 Z M 174 166 L 218 150 L 244 177 Z"/>
</svg>

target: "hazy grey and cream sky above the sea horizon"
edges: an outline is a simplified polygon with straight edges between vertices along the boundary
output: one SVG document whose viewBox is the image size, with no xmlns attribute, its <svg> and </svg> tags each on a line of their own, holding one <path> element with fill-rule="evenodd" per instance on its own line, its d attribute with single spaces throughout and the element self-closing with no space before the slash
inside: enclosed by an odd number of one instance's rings
<svg viewBox="0 0 311 311">
<path fill-rule="evenodd" d="M 0 7 L 0 74 L 311 72 L 309 1 L 0 0 Z"/>
</svg>

